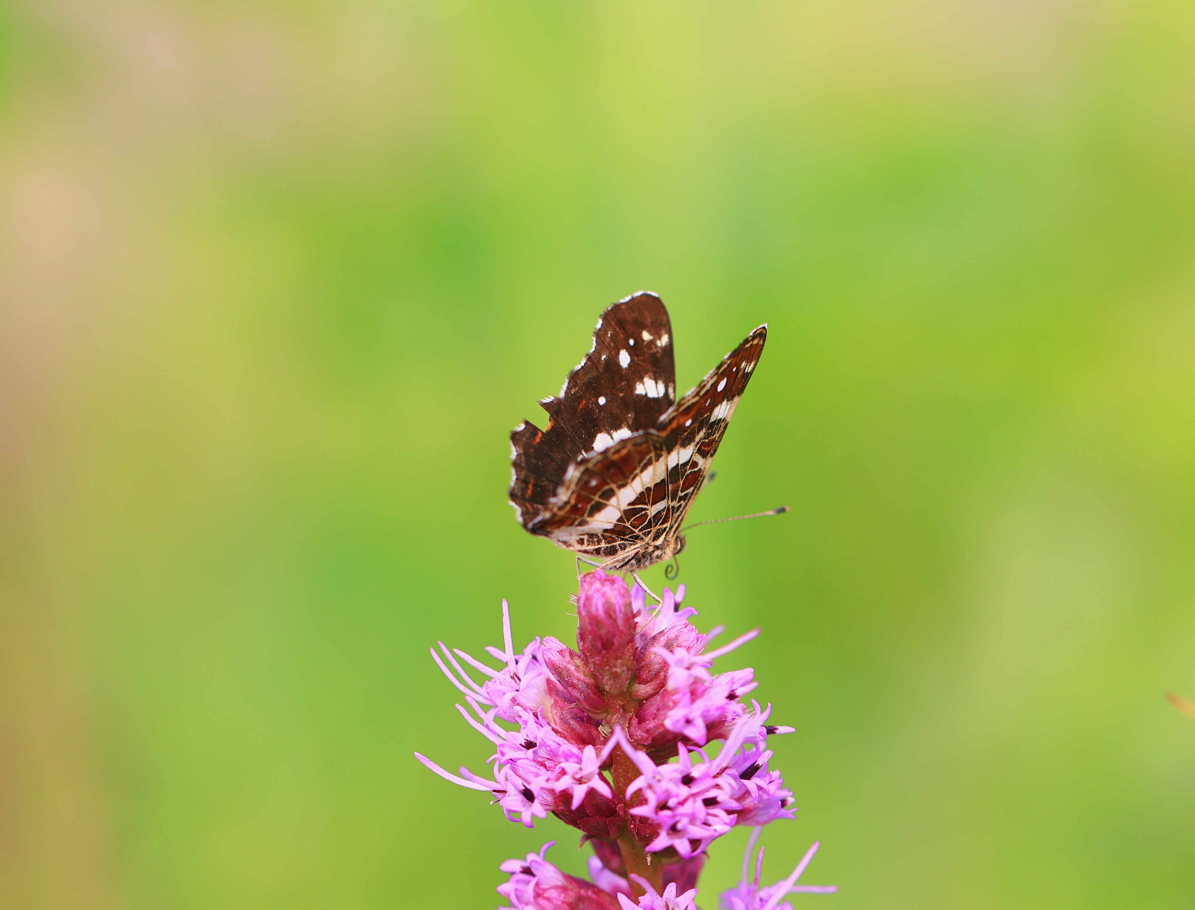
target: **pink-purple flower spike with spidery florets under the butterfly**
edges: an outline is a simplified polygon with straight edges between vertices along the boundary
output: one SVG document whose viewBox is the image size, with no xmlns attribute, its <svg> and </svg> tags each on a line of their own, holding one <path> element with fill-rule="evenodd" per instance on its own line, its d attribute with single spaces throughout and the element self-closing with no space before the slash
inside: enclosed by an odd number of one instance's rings
<svg viewBox="0 0 1195 910">
<path fill-rule="evenodd" d="M 735 825 L 793 817 L 792 793 L 770 767 L 767 749 L 770 735 L 792 728 L 766 722 L 771 706 L 743 702 L 758 685 L 749 667 L 713 672 L 715 660 L 759 630 L 706 651 L 721 628 L 698 631 L 690 622 L 697 612 L 680 606 L 684 594 L 666 588 L 649 611 L 642 588 L 627 591 L 598 570 L 581 580 L 576 649 L 537 637 L 515 653 L 505 601 L 503 647 L 486 648 L 500 668 L 442 642 L 433 649 L 465 696 L 456 710 L 494 753 L 488 775 L 416 758 L 489 794 L 511 822 L 533 827 L 551 813 L 582 831 L 582 843 L 593 838 L 593 881 L 565 875 L 543 850 L 503 863 L 510 880 L 498 890 L 516 910 L 692 910 L 706 850 L 718 837 Z M 710 758 L 704 747 L 716 740 L 724 743 Z M 644 851 L 651 862 L 637 868 L 650 882 L 627 877 L 627 863 L 642 863 Z M 758 875 L 747 882 L 744 873 L 724 899 L 739 900 L 735 910 L 777 910 L 803 868 L 783 891 L 779 884 L 760 888 Z M 636 904 L 637 891 L 644 893 Z"/>
</svg>

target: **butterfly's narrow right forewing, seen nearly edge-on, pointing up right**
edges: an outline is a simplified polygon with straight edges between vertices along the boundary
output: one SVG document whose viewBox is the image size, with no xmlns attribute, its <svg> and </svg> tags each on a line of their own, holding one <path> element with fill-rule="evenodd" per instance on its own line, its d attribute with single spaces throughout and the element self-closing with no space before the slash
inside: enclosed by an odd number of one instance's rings
<svg viewBox="0 0 1195 910">
<path fill-rule="evenodd" d="M 669 536 L 680 532 L 739 399 L 755 372 L 765 341 L 767 325 L 760 325 L 660 419 L 660 435 L 668 448 L 668 487 L 673 497 Z"/>
</svg>

